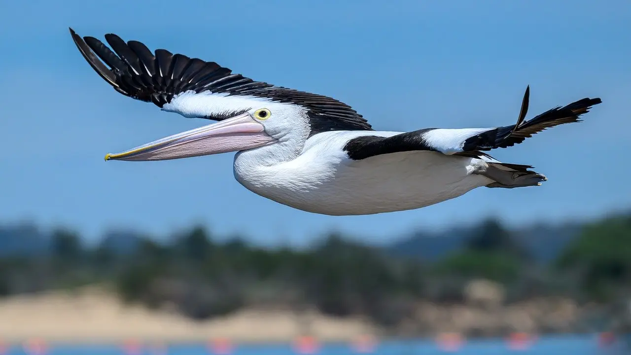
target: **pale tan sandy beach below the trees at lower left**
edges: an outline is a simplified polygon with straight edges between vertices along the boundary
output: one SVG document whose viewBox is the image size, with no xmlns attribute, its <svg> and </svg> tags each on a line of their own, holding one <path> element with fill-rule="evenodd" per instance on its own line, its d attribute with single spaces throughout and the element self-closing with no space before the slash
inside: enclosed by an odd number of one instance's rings
<svg viewBox="0 0 631 355">
<path fill-rule="evenodd" d="M 322 341 L 348 341 L 375 335 L 369 322 L 338 319 L 314 312 L 243 310 L 234 315 L 194 322 L 174 312 L 151 311 L 121 304 L 96 288 L 78 294 L 49 292 L 0 301 L 0 335 L 5 342 L 42 339 L 49 342 L 123 342 L 127 339 L 166 342 L 290 342 L 308 320 L 310 335 Z M 301 322 L 302 320 L 302 322 Z"/>
</svg>

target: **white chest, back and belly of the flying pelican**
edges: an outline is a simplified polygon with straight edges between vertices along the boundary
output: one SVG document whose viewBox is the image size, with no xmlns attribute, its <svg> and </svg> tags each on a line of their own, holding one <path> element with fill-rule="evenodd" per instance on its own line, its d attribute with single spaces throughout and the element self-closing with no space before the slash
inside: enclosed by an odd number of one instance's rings
<svg viewBox="0 0 631 355">
<path fill-rule="evenodd" d="M 370 132 L 393 136 L 401 132 Z M 411 210 L 449 200 L 492 183 L 473 174 L 481 159 L 411 151 L 353 160 L 343 150 L 364 131 L 312 136 L 294 159 L 257 164 L 256 150 L 235 156 L 235 178 L 252 192 L 290 207 L 327 215 Z"/>
</svg>

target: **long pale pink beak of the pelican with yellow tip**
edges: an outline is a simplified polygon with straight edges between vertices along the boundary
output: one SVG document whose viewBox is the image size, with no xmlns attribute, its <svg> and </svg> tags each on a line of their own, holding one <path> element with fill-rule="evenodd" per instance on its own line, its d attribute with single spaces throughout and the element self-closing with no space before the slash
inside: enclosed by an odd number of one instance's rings
<svg viewBox="0 0 631 355">
<path fill-rule="evenodd" d="M 105 160 L 168 160 L 235 152 L 276 141 L 247 112 L 218 123 L 152 141 L 122 153 L 107 153 Z"/>
</svg>

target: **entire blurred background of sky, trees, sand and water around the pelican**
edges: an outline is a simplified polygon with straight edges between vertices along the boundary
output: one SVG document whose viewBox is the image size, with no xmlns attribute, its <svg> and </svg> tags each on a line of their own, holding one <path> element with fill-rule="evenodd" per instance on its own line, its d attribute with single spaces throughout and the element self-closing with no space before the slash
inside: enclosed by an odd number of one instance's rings
<svg viewBox="0 0 631 355">
<path fill-rule="evenodd" d="M 0 4 L 0 354 L 630 354 L 631 3 Z M 538 188 L 332 217 L 245 190 L 233 154 L 103 162 L 206 121 L 112 90 L 116 33 L 335 97 L 375 129 L 512 124 Z"/>
</svg>

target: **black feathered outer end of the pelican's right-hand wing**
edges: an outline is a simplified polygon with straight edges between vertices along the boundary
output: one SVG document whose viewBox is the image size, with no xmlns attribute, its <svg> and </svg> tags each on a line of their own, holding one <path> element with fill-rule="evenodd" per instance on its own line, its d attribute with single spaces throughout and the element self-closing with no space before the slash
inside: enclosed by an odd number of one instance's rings
<svg viewBox="0 0 631 355">
<path fill-rule="evenodd" d="M 526 93 L 524 93 L 521 112 L 516 124 L 490 129 L 469 137 L 464 141 L 464 152 L 512 147 L 546 128 L 564 123 L 580 122 L 582 121 L 580 118 L 582 114 L 586 114 L 592 106 L 602 102 L 598 97 L 595 99 L 585 98 L 564 107 L 555 107 L 533 117 L 529 121 L 525 121 L 526 112 L 528 112 L 529 95 L 530 87 L 526 88 Z"/>
</svg>

